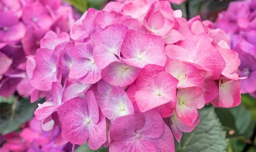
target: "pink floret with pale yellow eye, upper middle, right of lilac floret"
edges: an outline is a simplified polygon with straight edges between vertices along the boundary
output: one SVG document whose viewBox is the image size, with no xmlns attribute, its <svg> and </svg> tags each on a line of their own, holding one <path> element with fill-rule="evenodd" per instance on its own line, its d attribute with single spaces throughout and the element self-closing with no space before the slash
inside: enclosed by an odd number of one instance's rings
<svg viewBox="0 0 256 152">
<path fill-rule="evenodd" d="M 161 36 L 128 30 L 122 46 L 122 60 L 129 65 L 143 68 L 147 64 L 165 65 L 164 40 Z"/>
</svg>

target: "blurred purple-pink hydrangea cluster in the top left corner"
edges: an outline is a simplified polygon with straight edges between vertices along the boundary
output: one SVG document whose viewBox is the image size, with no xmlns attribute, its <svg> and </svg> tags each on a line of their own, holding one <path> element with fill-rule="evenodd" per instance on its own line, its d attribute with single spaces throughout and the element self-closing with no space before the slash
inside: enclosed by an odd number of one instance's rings
<svg viewBox="0 0 256 152">
<path fill-rule="evenodd" d="M 28 97 L 34 88 L 26 56 L 35 55 L 48 31 L 69 32 L 77 14 L 61 0 L 1 0 L 0 18 L 0 95 L 9 98 L 17 90 Z"/>
</svg>

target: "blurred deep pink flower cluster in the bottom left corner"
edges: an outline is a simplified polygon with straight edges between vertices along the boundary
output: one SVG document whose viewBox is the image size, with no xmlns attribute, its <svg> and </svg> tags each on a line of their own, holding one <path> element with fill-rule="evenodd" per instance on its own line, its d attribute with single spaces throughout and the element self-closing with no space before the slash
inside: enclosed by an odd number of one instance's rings
<svg viewBox="0 0 256 152">
<path fill-rule="evenodd" d="M 36 118 L 32 118 L 29 122 L 23 124 L 23 129 L 20 133 L 12 132 L 3 138 L 6 143 L 0 148 L 1 152 L 69 152 L 72 150 L 72 145 L 56 146 L 54 141 L 49 137 L 55 138 L 59 132 L 59 128 L 53 134 L 49 131 L 44 131 L 41 127 L 41 122 Z"/>
</svg>

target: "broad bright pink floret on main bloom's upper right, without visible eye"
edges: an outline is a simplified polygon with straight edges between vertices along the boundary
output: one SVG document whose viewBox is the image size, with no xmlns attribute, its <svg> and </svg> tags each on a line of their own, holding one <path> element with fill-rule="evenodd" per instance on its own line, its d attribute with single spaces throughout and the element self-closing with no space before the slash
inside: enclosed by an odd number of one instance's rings
<svg viewBox="0 0 256 152">
<path fill-rule="evenodd" d="M 188 36 L 180 43 L 180 47 L 167 45 L 165 53 L 171 59 L 190 62 L 195 67 L 208 71 L 213 79 L 220 77 L 226 64 L 204 33 Z"/>
</svg>

